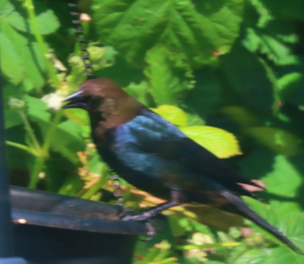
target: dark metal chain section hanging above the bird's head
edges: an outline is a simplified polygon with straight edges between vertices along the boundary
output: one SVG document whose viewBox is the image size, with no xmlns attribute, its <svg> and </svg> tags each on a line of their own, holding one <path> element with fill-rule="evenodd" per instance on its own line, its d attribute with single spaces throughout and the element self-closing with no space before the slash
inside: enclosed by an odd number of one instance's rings
<svg viewBox="0 0 304 264">
<path fill-rule="evenodd" d="M 68 3 L 69 7 L 71 8 L 71 16 L 72 16 L 72 23 L 75 29 L 76 34 L 76 41 L 80 44 L 80 57 L 83 61 L 83 65 L 85 66 L 85 75 L 88 76 L 88 78 L 93 77 L 93 69 L 92 69 L 92 62 L 90 59 L 90 54 L 88 52 L 88 42 L 85 39 L 85 35 L 83 33 L 83 28 L 81 25 L 81 19 L 80 19 L 80 13 L 78 12 L 77 7 L 77 1 L 72 1 Z"/>
</svg>

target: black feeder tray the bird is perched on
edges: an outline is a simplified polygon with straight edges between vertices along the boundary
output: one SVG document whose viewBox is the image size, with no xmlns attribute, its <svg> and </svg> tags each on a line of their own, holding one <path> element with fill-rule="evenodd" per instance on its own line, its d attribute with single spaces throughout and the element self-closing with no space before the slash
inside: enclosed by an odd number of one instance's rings
<svg viewBox="0 0 304 264">
<path fill-rule="evenodd" d="M 34 263 L 130 263 L 144 222 L 121 221 L 132 210 L 11 186 L 16 255 Z"/>
</svg>

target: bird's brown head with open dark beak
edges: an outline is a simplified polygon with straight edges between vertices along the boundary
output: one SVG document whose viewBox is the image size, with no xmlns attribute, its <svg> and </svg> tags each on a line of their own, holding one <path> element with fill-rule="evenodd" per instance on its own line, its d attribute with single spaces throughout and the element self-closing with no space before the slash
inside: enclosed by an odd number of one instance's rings
<svg viewBox="0 0 304 264">
<path fill-rule="evenodd" d="M 92 122 L 103 122 L 107 128 L 117 127 L 135 117 L 144 106 L 124 92 L 115 82 L 106 78 L 91 79 L 67 96 L 62 108 L 82 108 L 88 111 Z"/>
</svg>

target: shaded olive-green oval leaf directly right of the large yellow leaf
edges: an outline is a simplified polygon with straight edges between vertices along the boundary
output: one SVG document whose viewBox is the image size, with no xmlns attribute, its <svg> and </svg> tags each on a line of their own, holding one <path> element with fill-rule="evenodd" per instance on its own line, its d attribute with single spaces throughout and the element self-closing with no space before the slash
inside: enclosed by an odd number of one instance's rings
<svg viewBox="0 0 304 264">
<path fill-rule="evenodd" d="M 295 155 L 301 140 L 294 134 L 275 127 L 249 127 L 245 133 L 278 154 Z"/>
</svg>

